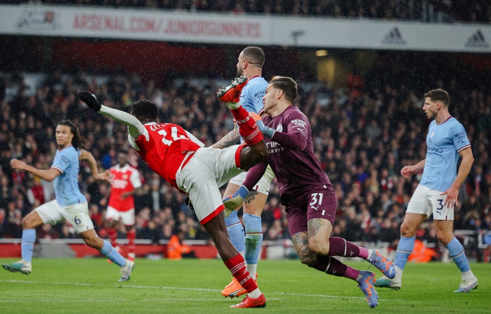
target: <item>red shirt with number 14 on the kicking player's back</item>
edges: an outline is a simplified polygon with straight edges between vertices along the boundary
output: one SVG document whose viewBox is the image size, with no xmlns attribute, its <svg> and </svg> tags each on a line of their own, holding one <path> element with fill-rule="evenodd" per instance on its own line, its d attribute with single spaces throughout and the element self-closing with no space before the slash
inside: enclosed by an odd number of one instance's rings
<svg viewBox="0 0 491 314">
<path fill-rule="evenodd" d="M 205 144 L 178 125 L 149 123 L 140 137 L 130 143 L 151 170 L 177 188 L 175 174 L 188 152 L 195 152 Z M 186 160 L 189 160 L 187 158 Z M 184 164 L 183 164 L 184 166 Z"/>
</svg>

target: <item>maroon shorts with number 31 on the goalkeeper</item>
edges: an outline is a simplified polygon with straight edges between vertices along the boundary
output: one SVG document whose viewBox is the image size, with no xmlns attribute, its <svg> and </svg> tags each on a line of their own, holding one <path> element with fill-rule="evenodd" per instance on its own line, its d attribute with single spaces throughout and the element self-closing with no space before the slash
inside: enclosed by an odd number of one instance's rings
<svg viewBox="0 0 491 314">
<path fill-rule="evenodd" d="M 314 218 L 326 219 L 334 226 L 334 216 L 338 208 L 336 194 L 319 186 L 303 198 L 305 206 L 286 206 L 290 236 L 297 232 L 307 232 L 307 222 Z"/>
</svg>

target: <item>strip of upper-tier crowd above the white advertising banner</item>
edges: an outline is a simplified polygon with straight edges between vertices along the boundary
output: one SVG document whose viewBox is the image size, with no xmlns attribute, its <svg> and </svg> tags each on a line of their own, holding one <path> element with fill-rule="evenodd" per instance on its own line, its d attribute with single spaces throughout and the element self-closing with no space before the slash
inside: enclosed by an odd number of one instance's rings
<svg viewBox="0 0 491 314">
<path fill-rule="evenodd" d="M 428 22 L 489 22 L 491 4 L 486 0 L 2 0 L 0 3 L 69 4 L 105 7 L 151 8 L 181 11 L 213 11 L 234 14 L 281 14 Z"/>
</svg>

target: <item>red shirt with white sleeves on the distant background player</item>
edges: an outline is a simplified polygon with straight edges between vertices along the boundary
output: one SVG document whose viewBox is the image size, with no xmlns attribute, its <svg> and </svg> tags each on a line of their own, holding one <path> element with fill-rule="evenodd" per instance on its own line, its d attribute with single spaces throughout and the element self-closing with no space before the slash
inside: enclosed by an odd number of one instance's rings
<svg viewBox="0 0 491 314">
<path fill-rule="evenodd" d="M 119 164 L 109 169 L 113 177 L 111 183 L 111 195 L 109 196 L 108 206 L 118 211 L 128 211 L 135 208 L 135 199 L 130 195 L 123 199 L 122 194 L 142 186 L 138 170 L 131 167 L 129 163 L 120 167 Z"/>
</svg>

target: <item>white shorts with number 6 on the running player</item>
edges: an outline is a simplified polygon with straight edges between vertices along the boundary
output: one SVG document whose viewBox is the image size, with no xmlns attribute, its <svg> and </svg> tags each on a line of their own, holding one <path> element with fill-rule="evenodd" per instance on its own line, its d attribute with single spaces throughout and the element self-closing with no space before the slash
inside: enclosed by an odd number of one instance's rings
<svg viewBox="0 0 491 314">
<path fill-rule="evenodd" d="M 53 200 L 34 210 L 39 214 L 44 224 L 54 225 L 66 219 L 77 233 L 94 229 L 94 224 L 88 215 L 87 202 L 61 206 L 56 200 Z"/>
</svg>

